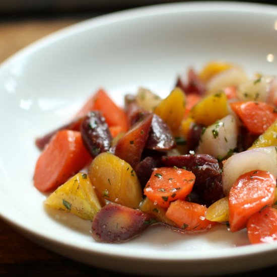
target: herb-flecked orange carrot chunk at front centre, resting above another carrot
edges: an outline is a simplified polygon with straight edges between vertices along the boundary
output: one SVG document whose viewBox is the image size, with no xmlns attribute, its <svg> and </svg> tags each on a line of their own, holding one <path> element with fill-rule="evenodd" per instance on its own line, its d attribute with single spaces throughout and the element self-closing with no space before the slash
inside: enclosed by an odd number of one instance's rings
<svg viewBox="0 0 277 277">
<path fill-rule="evenodd" d="M 155 168 L 147 182 L 144 193 L 161 207 L 168 207 L 170 202 L 185 199 L 191 192 L 195 175 L 185 169 L 175 167 Z"/>
</svg>

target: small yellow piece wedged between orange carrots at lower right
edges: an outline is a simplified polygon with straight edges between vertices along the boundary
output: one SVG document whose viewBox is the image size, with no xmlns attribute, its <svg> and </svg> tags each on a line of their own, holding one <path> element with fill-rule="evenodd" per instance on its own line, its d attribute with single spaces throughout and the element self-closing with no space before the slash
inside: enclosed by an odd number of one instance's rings
<svg viewBox="0 0 277 277">
<path fill-rule="evenodd" d="M 210 221 L 227 222 L 229 221 L 229 202 L 225 196 L 207 208 L 205 218 Z"/>
</svg>

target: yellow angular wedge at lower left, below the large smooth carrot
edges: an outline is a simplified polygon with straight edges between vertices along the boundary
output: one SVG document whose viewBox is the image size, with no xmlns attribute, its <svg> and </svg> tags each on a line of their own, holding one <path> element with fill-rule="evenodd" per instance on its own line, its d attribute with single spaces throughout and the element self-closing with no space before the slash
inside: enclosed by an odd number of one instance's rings
<svg viewBox="0 0 277 277">
<path fill-rule="evenodd" d="M 77 173 L 60 185 L 46 198 L 44 204 L 85 220 L 92 220 L 101 209 L 100 201 L 88 175 L 85 173 Z"/>
</svg>

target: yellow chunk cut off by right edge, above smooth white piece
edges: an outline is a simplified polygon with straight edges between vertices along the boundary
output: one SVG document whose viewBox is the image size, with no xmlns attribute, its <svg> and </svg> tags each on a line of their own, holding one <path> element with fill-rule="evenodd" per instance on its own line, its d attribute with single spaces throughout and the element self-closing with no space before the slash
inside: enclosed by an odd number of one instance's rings
<svg viewBox="0 0 277 277">
<path fill-rule="evenodd" d="M 248 149 L 277 146 L 277 119 L 257 138 Z"/>
</svg>

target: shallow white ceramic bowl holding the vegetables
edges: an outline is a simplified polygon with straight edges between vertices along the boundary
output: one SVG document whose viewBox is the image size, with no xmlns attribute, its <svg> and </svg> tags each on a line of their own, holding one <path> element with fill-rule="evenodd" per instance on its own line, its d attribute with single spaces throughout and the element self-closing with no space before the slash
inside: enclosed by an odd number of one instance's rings
<svg viewBox="0 0 277 277">
<path fill-rule="evenodd" d="M 31 240 L 106 269 L 216 275 L 276 263 L 277 243 L 249 245 L 222 226 L 189 236 L 153 228 L 122 244 L 96 243 L 90 224 L 47 214 L 32 183 L 35 137 L 67 122 L 99 87 L 123 104 L 138 86 L 166 96 L 189 66 L 224 59 L 249 74 L 277 71 L 277 7 L 183 3 L 134 9 L 76 24 L 0 67 L 0 215 Z"/>
</svg>

